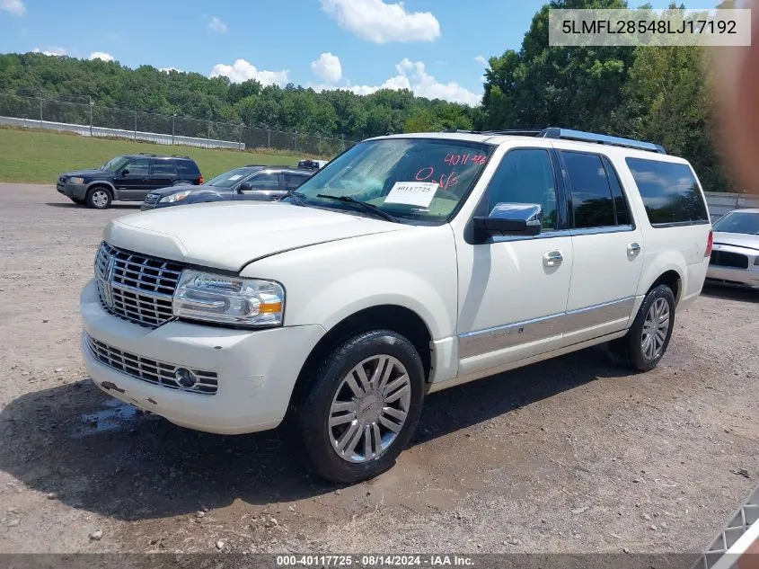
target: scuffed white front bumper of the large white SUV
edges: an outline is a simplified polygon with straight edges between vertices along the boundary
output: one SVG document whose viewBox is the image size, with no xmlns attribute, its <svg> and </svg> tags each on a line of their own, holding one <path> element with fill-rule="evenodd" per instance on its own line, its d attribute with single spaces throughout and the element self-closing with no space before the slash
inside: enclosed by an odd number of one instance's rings
<svg viewBox="0 0 759 569">
<path fill-rule="evenodd" d="M 175 321 L 146 328 L 108 313 L 93 281 L 82 291 L 80 309 L 84 363 L 95 385 L 183 427 L 222 434 L 276 427 L 306 357 L 324 334 L 320 325 L 233 330 Z M 145 358 L 215 371 L 216 394 L 190 393 L 129 376 L 96 359 L 85 333 Z"/>
</svg>

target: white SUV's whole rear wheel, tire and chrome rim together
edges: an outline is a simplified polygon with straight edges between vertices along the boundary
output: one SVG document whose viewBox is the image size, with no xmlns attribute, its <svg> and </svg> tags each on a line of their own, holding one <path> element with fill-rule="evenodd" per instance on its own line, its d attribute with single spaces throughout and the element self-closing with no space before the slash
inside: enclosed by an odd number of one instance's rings
<svg viewBox="0 0 759 569">
<path fill-rule="evenodd" d="M 656 368 L 674 327 L 675 295 L 666 285 L 659 285 L 643 299 L 628 333 L 609 342 L 612 359 L 638 371 Z"/>
</svg>

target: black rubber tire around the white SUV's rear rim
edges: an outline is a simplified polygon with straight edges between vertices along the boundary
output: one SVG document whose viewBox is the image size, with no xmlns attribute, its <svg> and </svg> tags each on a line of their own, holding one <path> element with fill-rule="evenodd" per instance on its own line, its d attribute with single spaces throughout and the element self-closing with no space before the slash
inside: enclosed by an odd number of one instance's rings
<svg viewBox="0 0 759 569">
<path fill-rule="evenodd" d="M 668 322 L 666 332 L 664 333 L 663 341 L 655 340 L 658 330 L 654 330 L 650 342 L 661 342 L 661 346 L 657 347 L 655 343 L 651 348 L 649 345 L 649 351 L 644 350 L 644 327 L 647 326 L 647 317 L 649 317 L 649 311 L 655 303 L 666 303 L 666 309 L 668 310 Z M 661 317 L 664 317 L 662 315 Z M 619 338 L 608 343 L 609 354 L 612 361 L 617 365 L 622 365 L 637 371 L 649 371 L 657 367 L 659 360 L 662 359 L 666 352 L 666 348 L 669 345 L 669 340 L 672 337 L 672 330 L 675 327 L 675 295 L 672 289 L 666 285 L 658 285 L 658 287 L 649 290 L 649 294 L 644 298 L 643 303 L 640 305 L 638 314 L 635 316 L 630 330 Z M 648 334 L 651 335 L 651 334 Z"/>
</svg>

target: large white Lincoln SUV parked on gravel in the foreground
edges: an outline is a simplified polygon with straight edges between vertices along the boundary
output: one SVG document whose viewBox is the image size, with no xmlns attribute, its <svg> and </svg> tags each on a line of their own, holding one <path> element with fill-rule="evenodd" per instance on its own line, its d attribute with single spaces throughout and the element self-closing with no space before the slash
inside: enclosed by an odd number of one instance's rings
<svg viewBox="0 0 759 569">
<path fill-rule="evenodd" d="M 393 465 L 431 392 L 600 342 L 654 368 L 711 229 L 684 159 L 545 129 L 366 140 L 284 202 L 111 221 L 81 298 L 111 396 L 218 433 L 288 417 L 322 476 Z"/>
</svg>

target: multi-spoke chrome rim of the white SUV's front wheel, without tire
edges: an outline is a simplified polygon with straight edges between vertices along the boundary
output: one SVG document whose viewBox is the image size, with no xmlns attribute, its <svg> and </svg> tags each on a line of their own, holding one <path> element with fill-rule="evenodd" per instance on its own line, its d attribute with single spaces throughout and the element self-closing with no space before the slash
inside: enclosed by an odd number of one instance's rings
<svg viewBox="0 0 759 569">
<path fill-rule="evenodd" d="M 400 360 L 367 358 L 351 369 L 332 399 L 332 448 L 343 460 L 362 463 L 380 457 L 402 430 L 409 413 L 411 381 Z"/>
</svg>

